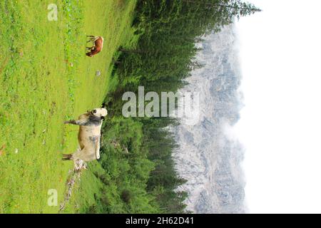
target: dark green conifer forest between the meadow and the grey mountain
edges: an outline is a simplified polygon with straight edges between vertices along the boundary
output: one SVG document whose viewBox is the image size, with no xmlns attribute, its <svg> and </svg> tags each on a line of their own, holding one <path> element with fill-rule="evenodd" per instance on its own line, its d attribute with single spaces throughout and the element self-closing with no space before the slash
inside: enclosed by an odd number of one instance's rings
<svg viewBox="0 0 321 228">
<path fill-rule="evenodd" d="M 257 11 L 240 0 L 137 1 L 133 41 L 116 53 L 112 80 L 117 83 L 105 100 L 111 104 L 113 118 L 103 127 L 104 171 L 96 174 L 103 182 L 97 197 L 101 212 L 186 212 L 188 196 L 178 191 L 185 180 L 175 170 L 172 157 L 178 145 L 167 128 L 179 124 L 178 120 L 123 118 L 121 95 L 136 92 L 138 86 L 144 86 L 146 93 L 175 93 L 193 69 L 202 67 L 195 59 L 199 51 L 195 43 Z M 111 145 L 111 140 L 116 143 Z"/>
</svg>

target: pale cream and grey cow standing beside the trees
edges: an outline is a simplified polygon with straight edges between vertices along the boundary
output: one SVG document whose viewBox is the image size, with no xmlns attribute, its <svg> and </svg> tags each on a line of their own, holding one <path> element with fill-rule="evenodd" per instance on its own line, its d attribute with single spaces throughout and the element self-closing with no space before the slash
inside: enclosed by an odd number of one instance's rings
<svg viewBox="0 0 321 228">
<path fill-rule="evenodd" d="M 79 125 L 79 149 L 73 154 L 63 154 L 63 160 L 83 160 L 89 162 L 98 160 L 101 143 L 101 125 L 108 114 L 106 108 L 95 108 L 78 117 L 78 120 L 68 120 L 65 124 Z"/>
</svg>

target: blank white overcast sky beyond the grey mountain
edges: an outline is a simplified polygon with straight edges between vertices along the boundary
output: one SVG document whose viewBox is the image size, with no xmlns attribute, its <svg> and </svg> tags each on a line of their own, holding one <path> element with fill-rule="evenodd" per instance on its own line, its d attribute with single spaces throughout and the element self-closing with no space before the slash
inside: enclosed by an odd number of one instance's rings
<svg viewBox="0 0 321 228">
<path fill-rule="evenodd" d="M 252 0 L 236 23 L 245 108 L 235 131 L 250 213 L 321 212 L 321 1 Z"/>
</svg>

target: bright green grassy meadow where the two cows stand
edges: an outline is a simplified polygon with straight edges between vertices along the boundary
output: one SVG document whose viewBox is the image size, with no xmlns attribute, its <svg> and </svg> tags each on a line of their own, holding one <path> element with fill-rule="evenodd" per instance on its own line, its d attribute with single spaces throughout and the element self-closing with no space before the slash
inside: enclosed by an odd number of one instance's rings
<svg viewBox="0 0 321 228">
<path fill-rule="evenodd" d="M 62 153 L 77 148 L 78 128 L 63 125 L 98 107 L 110 89 L 111 60 L 133 34 L 136 1 L 57 1 L 58 21 L 48 21 L 52 1 L 0 2 L 0 213 L 56 213 L 49 189 L 63 200 L 72 162 Z M 103 51 L 85 56 L 86 35 L 104 37 Z M 101 76 L 96 76 L 101 71 Z M 99 170 L 97 162 L 91 165 Z M 99 184 L 81 179 L 66 212 L 82 212 Z M 78 196 L 77 196 L 78 194 Z M 88 197 L 81 198 L 79 195 Z"/>
</svg>

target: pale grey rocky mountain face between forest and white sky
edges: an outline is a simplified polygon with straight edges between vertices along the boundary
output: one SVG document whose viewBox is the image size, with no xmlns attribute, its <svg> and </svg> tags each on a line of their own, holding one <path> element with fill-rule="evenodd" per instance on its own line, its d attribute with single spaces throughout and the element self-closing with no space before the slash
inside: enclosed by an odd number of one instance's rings
<svg viewBox="0 0 321 228">
<path fill-rule="evenodd" d="M 233 26 L 204 37 L 197 60 L 204 67 L 192 72 L 180 92 L 199 92 L 200 117 L 195 125 L 173 129 L 180 148 L 176 169 L 188 180 L 182 190 L 194 213 L 243 213 L 244 187 L 240 162 L 243 147 L 230 133 L 242 108 L 238 50 Z"/>
</svg>

